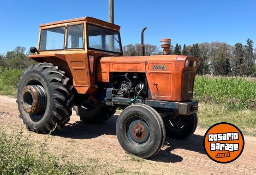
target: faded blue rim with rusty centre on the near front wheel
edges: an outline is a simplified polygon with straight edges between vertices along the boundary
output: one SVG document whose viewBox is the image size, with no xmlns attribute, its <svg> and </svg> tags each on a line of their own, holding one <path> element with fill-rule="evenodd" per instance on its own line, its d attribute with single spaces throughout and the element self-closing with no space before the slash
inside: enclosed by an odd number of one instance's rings
<svg viewBox="0 0 256 175">
<path fill-rule="evenodd" d="M 150 138 L 149 125 L 139 116 L 132 116 L 125 125 L 128 142 L 134 147 L 145 146 Z"/>
</svg>

